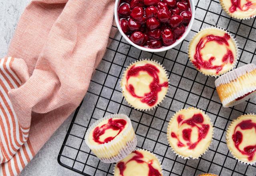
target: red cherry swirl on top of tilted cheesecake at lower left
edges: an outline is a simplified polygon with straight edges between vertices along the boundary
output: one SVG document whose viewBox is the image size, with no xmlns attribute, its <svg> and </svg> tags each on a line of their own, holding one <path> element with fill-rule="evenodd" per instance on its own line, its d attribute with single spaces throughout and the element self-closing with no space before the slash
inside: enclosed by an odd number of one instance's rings
<svg viewBox="0 0 256 176">
<path fill-rule="evenodd" d="M 94 131 L 92 133 L 93 140 L 95 142 L 97 142 L 98 144 L 104 144 L 106 142 L 109 142 L 109 141 L 113 140 L 124 129 L 126 123 L 127 122 L 124 119 L 115 119 L 115 120 L 113 120 L 112 118 L 108 119 L 107 124 L 104 124 L 100 127 L 97 126 L 94 129 Z M 111 136 L 111 137 L 108 137 L 108 138 L 104 139 L 104 141 L 100 141 L 100 136 L 105 134 L 105 131 L 108 130 L 108 129 L 119 130 L 119 132 L 118 132 L 118 134 L 116 134 L 116 136 Z"/>
</svg>

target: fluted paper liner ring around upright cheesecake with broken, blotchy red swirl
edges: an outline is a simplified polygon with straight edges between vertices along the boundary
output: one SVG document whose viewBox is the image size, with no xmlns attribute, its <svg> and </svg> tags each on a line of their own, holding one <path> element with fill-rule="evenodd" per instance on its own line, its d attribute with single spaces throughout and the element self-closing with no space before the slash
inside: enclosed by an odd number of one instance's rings
<svg viewBox="0 0 256 176">
<path fill-rule="evenodd" d="M 179 114 L 179 112 L 181 112 L 182 110 L 188 111 L 188 110 L 191 110 L 191 109 L 192 109 L 192 110 L 193 110 L 193 109 L 200 110 L 200 112 L 202 112 L 202 114 L 204 114 L 204 117 L 205 117 L 205 118 L 209 118 L 210 126 L 212 127 L 212 134 L 211 134 L 212 139 L 211 139 L 211 140 L 208 142 L 208 144 L 205 146 L 204 152 L 202 152 L 202 153 L 201 153 L 199 156 L 197 156 L 197 157 L 194 157 L 194 156 L 184 156 L 184 155 L 180 154 L 178 151 L 176 151 L 176 150 L 174 149 L 174 147 L 172 146 L 172 145 L 173 145 L 173 144 L 172 144 L 172 141 L 171 141 L 171 139 L 170 139 L 170 133 L 171 133 L 170 125 L 172 124 L 172 122 L 173 122 L 173 120 L 175 119 L 175 117 L 177 116 L 177 114 Z M 172 116 L 172 118 L 170 119 L 170 122 L 169 122 L 169 124 L 168 124 L 168 127 L 167 127 L 167 139 L 168 139 L 168 142 L 169 142 L 169 145 L 170 145 L 171 150 L 172 150 L 176 155 L 178 155 L 178 157 L 181 157 L 181 158 L 184 158 L 184 159 L 190 159 L 190 158 L 192 158 L 192 159 L 198 159 L 200 156 L 202 156 L 203 154 L 205 154 L 205 153 L 209 150 L 210 145 L 212 144 L 213 137 L 214 137 L 214 128 L 213 128 L 211 119 L 210 119 L 210 117 L 209 117 L 207 114 L 205 114 L 204 111 L 202 111 L 202 110 L 199 109 L 199 108 L 189 107 L 189 108 L 185 108 L 185 109 L 180 109 L 178 112 L 176 112 L 176 113 Z"/>
</svg>

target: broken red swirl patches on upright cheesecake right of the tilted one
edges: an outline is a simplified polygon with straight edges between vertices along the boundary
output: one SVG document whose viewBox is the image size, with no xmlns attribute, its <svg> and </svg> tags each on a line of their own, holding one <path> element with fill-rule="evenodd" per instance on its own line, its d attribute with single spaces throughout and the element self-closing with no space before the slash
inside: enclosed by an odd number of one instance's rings
<svg viewBox="0 0 256 176">
<path fill-rule="evenodd" d="M 182 124 L 188 124 L 191 127 L 198 128 L 198 140 L 194 143 L 191 142 L 192 129 L 191 128 L 186 128 L 186 129 L 182 130 L 182 138 L 185 141 L 188 141 L 186 143 L 186 145 L 188 146 L 188 149 L 190 149 L 190 150 L 196 148 L 198 143 L 206 137 L 206 135 L 208 134 L 208 131 L 210 129 L 210 125 L 202 124 L 204 122 L 204 117 L 202 116 L 202 114 L 194 114 L 194 116 L 192 116 L 192 118 L 190 118 L 188 120 L 184 120 L 181 124 L 180 124 L 180 122 L 182 121 L 182 115 L 179 115 L 178 118 L 177 118 L 177 121 L 178 121 L 179 127 Z M 201 127 L 198 126 L 198 124 L 200 124 Z M 172 136 L 172 138 L 177 138 L 178 139 L 178 143 L 177 143 L 178 147 L 184 147 L 185 146 L 182 142 L 180 142 L 178 136 L 174 132 L 171 133 L 171 136 Z"/>
</svg>

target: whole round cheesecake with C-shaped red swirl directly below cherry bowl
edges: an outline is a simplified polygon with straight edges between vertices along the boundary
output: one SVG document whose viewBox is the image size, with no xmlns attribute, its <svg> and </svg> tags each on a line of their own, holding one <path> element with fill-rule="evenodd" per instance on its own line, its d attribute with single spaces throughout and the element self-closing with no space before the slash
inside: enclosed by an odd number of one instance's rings
<svg viewBox="0 0 256 176">
<path fill-rule="evenodd" d="M 126 69 L 121 87 L 123 96 L 130 105 L 145 110 L 162 102 L 168 90 L 168 78 L 158 63 L 142 60 Z"/>
</svg>

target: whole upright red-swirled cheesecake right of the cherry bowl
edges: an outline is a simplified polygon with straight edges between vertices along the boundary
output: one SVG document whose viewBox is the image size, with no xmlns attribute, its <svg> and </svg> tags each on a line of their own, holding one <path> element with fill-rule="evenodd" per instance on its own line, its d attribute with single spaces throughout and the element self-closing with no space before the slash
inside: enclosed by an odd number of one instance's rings
<svg viewBox="0 0 256 176">
<path fill-rule="evenodd" d="M 206 28 L 190 41 L 188 57 L 195 68 L 203 74 L 220 76 L 232 70 L 236 64 L 236 41 L 225 30 L 216 27 Z"/>
</svg>

